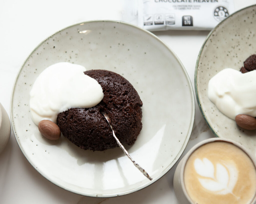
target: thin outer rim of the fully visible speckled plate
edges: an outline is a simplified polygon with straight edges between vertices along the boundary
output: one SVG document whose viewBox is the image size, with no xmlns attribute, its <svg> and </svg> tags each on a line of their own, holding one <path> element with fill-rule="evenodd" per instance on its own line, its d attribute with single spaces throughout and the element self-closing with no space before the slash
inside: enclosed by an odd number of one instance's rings
<svg viewBox="0 0 256 204">
<path fill-rule="evenodd" d="M 152 181 L 140 186 L 140 187 L 137 187 L 137 188 L 131 188 L 129 190 L 126 190 L 126 191 L 123 191 L 123 192 L 120 192 L 120 193 L 111 193 L 111 194 L 101 194 L 101 195 L 96 195 L 96 194 L 88 194 L 86 192 L 82 192 L 82 191 L 77 191 L 77 190 L 74 190 L 72 188 L 68 188 L 62 184 L 58 184 L 57 182 L 53 181 L 51 178 L 49 178 L 47 175 L 45 175 L 40 169 L 38 169 L 32 161 L 30 161 L 29 157 L 26 155 L 25 153 L 25 150 L 23 149 L 22 145 L 19 143 L 18 141 L 18 135 L 17 135 L 17 132 L 16 132 L 16 129 L 15 129 L 15 124 L 14 124 L 14 115 L 13 115 L 13 97 L 14 97 L 14 91 L 15 91 L 15 87 L 16 87 L 16 84 L 17 84 L 17 79 L 25 65 L 25 63 L 27 62 L 27 60 L 30 58 L 30 56 L 34 53 L 34 51 L 39 47 L 41 46 L 47 39 L 49 39 L 50 37 L 56 35 L 57 33 L 65 30 L 65 29 L 69 29 L 71 27 L 74 27 L 74 26 L 77 26 L 77 25 L 82 25 L 82 24 L 85 24 L 85 23 L 98 23 L 98 22 L 107 22 L 107 23 L 120 23 L 120 24 L 123 24 L 123 25 L 126 25 L 126 26 L 130 26 L 134 29 L 139 29 L 141 31 L 143 31 L 144 33 L 150 35 L 151 37 L 153 37 L 154 39 L 156 39 L 158 42 L 160 42 L 162 45 L 164 45 L 168 51 L 170 53 L 172 53 L 172 55 L 174 56 L 174 58 L 177 60 L 177 62 L 179 63 L 180 67 L 182 68 L 183 70 L 183 73 L 184 73 L 184 77 L 186 77 L 187 79 L 187 82 L 188 82 L 188 86 L 189 86 L 189 89 L 190 89 L 190 93 L 191 93 L 191 121 L 190 121 L 190 126 L 189 126 L 189 129 L 188 129 L 188 134 L 187 134 L 187 137 L 184 141 L 184 144 L 182 146 L 182 148 L 180 149 L 180 151 L 178 152 L 176 158 L 174 158 L 173 162 L 171 162 L 169 164 L 169 166 L 164 170 L 162 171 L 162 173 L 160 173 L 157 177 L 153 178 Z M 56 186 L 58 187 L 61 187 L 65 190 L 68 190 L 72 193 L 75 193 L 75 194 L 79 194 L 79 195 L 83 195 L 83 196 L 89 196 L 89 197 L 98 197 L 98 198 L 109 198 L 109 197 L 117 197 L 117 196 L 123 196 L 123 195 L 128 195 L 128 194 L 131 194 L 131 193 L 134 193 L 134 192 L 137 192 L 138 190 L 141 190 L 141 189 L 144 189 L 145 187 L 147 186 L 150 186 L 151 184 L 155 183 L 157 180 L 159 180 L 161 177 L 163 177 L 174 165 L 175 163 L 179 160 L 179 158 L 181 157 L 181 155 L 183 154 L 185 148 L 187 147 L 187 144 L 188 144 L 188 141 L 190 139 L 190 136 L 191 136 L 191 133 L 192 133 L 192 130 L 193 130 L 193 126 L 194 126 L 194 120 L 195 120 L 195 97 L 194 97 L 194 90 L 193 90 L 193 87 L 192 87 L 192 83 L 191 83 L 191 80 L 189 78 L 189 75 L 183 65 L 183 63 L 180 61 L 180 59 L 178 58 L 178 56 L 174 53 L 174 51 L 164 42 L 162 41 L 160 38 L 158 38 L 155 34 L 151 33 L 150 31 L 147 31 L 141 27 L 138 27 L 137 25 L 134 25 L 134 24 L 131 24 L 131 23 L 127 23 L 127 22 L 124 22 L 124 21 L 119 21 L 119 20 L 89 20 L 89 21 L 82 21 L 82 22 L 79 22 L 79 23 L 76 23 L 76 24 L 72 24 L 72 25 L 69 25 L 57 32 L 55 32 L 54 34 L 46 37 L 44 40 L 42 40 L 34 49 L 33 51 L 28 55 L 28 57 L 24 60 L 24 62 L 22 63 L 22 66 L 20 67 L 17 75 L 16 75 L 16 78 L 15 78 L 15 81 L 14 81 L 14 84 L 13 84 L 13 88 L 12 88 L 12 92 L 11 92 L 11 99 L 10 99 L 10 121 L 11 121 L 11 124 L 12 124 L 12 131 L 14 133 L 14 136 L 15 136 L 15 139 L 16 139 L 16 142 L 20 148 L 20 150 L 22 151 L 23 155 L 25 156 L 25 158 L 28 160 L 28 162 L 43 176 L 45 177 L 45 179 L 47 179 L 48 181 L 50 181 L 51 183 L 55 184 Z"/>
</svg>

